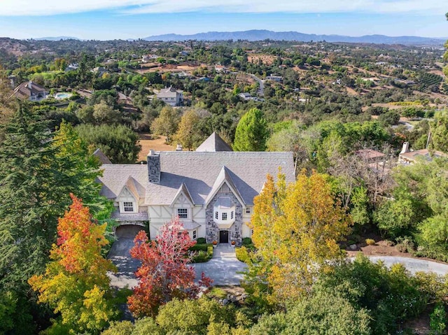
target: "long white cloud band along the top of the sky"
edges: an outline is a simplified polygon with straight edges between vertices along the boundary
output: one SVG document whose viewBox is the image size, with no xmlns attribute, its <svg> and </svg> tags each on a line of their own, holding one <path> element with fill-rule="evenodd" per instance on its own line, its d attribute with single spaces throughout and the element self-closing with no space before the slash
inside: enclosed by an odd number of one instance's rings
<svg viewBox="0 0 448 335">
<path fill-rule="evenodd" d="M 0 0 L 0 16 L 116 13 L 409 13 L 443 14 L 445 0 Z"/>
</svg>

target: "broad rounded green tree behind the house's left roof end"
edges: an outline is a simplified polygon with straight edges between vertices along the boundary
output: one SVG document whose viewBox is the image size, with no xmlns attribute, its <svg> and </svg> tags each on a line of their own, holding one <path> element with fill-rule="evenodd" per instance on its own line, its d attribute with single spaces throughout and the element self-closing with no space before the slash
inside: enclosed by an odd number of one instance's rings
<svg viewBox="0 0 448 335">
<path fill-rule="evenodd" d="M 104 155 L 115 164 L 127 164 L 137 161 L 141 150 L 138 144 L 139 135 L 123 124 L 93 126 L 80 124 L 76 127 L 80 138 L 96 149 L 99 148 Z"/>
</svg>

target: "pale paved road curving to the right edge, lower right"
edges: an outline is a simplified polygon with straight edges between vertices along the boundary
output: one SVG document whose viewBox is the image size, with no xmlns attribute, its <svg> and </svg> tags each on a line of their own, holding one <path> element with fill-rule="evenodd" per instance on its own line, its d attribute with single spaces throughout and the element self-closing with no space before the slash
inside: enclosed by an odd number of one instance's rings
<svg viewBox="0 0 448 335">
<path fill-rule="evenodd" d="M 436 262 L 430 262 L 425 259 L 415 259 L 407 257 L 393 257 L 393 256 L 370 256 L 372 262 L 381 260 L 386 266 L 392 266 L 396 263 L 403 264 L 411 273 L 419 271 L 434 272 L 438 275 L 444 276 L 448 273 L 448 265 Z"/>
</svg>

